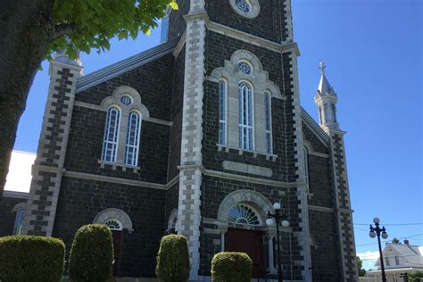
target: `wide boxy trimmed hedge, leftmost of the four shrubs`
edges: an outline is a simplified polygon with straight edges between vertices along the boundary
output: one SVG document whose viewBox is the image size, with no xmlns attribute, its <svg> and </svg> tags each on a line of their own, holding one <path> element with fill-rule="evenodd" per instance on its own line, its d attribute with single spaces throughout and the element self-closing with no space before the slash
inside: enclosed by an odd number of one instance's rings
<svg viewBox="0 0 423 282">
<path fill-rule="evenodd" d="M 62 281 L 65 246 L 45 236 L 0 237 L 0 281 Z"/>
</svg>

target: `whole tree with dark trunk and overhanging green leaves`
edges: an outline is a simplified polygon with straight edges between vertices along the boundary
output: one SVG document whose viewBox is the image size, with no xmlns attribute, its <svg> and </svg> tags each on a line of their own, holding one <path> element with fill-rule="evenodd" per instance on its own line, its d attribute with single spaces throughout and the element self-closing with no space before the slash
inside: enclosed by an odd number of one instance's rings
<svg viewBox="0 0 423 282">
<path fill-rule="evenodd" d="M 54 52 L 75 59 L 112 37 L 148 34 L 176 0 L 3 0 L 0 9 L 0 196 L 18 121 L 41 62 Z"/>
</svg>

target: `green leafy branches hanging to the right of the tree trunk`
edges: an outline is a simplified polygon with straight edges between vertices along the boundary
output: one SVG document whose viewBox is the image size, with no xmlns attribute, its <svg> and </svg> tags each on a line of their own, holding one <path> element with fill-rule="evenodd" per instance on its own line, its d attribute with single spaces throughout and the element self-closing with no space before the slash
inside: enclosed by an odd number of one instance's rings
<svg viewBox="0 0 423 282">
<path fill-rule="evenodd" d="M 112 37 L 149 34 L 168 5 L 178 9 L 175 0 L 55 0 L 54 37 L 47 55 L 61 50 L 75 58 L 77 50 L 108 50 Z"/>
</svg>

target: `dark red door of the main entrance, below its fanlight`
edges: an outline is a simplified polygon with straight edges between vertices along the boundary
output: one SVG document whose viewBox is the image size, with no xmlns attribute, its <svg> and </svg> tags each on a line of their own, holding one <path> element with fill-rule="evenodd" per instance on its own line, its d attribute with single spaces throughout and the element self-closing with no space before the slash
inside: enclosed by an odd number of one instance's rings
<svg viewBox="0 0 423 282">
<path fill-rule="evenodd" d="M 228 228 L 225 236 L 225 251 L 248 254 L 253 261 L 253 278 L 264 278 L 266 269 L 261 231 Z"/>
</svg>

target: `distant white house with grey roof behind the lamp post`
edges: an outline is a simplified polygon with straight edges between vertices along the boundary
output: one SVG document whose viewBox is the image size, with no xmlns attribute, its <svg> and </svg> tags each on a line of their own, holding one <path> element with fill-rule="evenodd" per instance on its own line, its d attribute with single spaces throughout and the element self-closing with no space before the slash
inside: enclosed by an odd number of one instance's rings
<svg viewBox="0 0 423 282">
<path fill-rule="evenodd" d="M 403 273 L 423 271 L 423 246 L 410 245 L 409 240 L 404 243 L 387 243 L 383 251 L 387 282 L 402 282 Z M 376 261 L 377 270 L 369 270 L 361 282 L 381 281 L 382 271 L 380 259 Z"/>
</svg>

